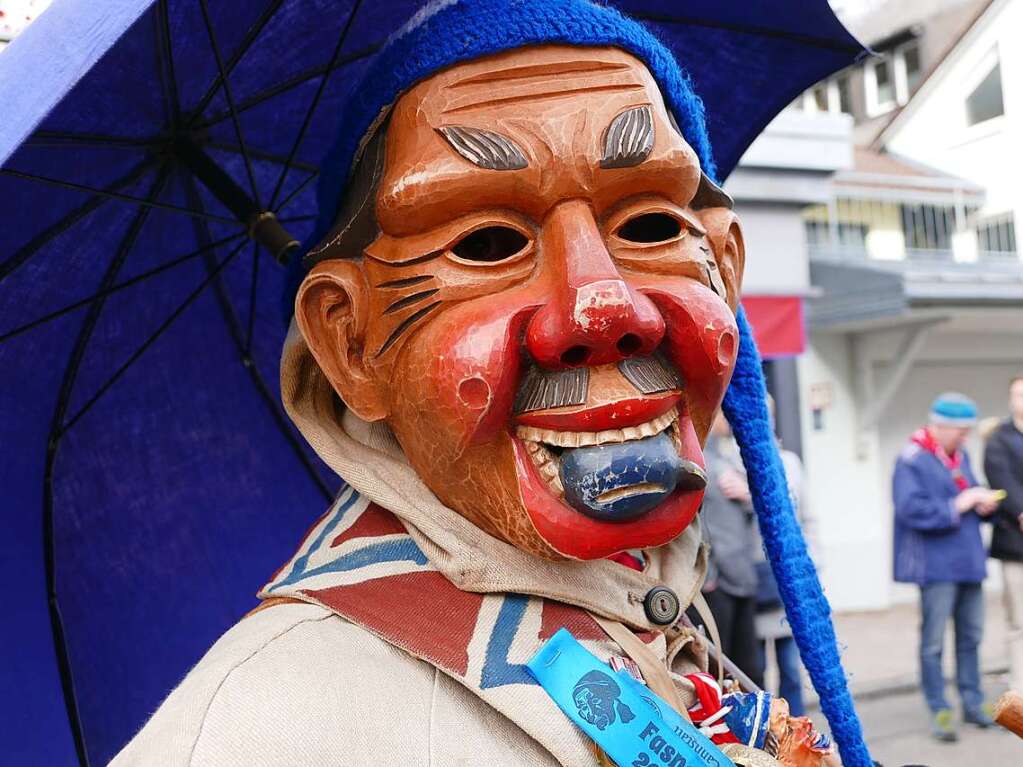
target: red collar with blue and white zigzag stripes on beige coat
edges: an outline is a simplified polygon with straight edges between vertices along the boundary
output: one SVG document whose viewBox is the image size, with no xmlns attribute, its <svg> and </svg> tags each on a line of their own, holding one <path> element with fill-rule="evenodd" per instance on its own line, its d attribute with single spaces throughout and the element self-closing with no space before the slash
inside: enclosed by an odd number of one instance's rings
<svg viewBox="0 0 1023 767">
<path fill-rule="evenodd" d="M 459 589 L 397 516 L 351 487 L 260 596 L 311 602 L 342 616 L 464 685 L 562 764 L 592 763 L 592 743 L 536 684 L 526 663 L 562 628 L 605 662 L 621 653 L 618 645 L 578 606 Z M 669 648 L 661 631 L 638 636 L 662 663 L 688 641 L 676 637 Z"/>
</svg>

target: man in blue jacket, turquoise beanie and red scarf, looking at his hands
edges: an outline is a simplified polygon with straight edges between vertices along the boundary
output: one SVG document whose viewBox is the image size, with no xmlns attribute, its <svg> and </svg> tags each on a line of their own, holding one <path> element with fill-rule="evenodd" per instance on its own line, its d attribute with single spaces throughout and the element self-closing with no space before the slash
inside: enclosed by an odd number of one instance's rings
<svg viewBox="0 0 1023 767">
<path fill-rule="evenodd" d="M 949 618 L 955 625 L 963 719 L 980 727 L 992 724 L 977 658 L 984 629 L 981 584 L 987 575 L 980 522 L 994 511 L 999 496 L 978 486 L 963 449 L 976 420 L 973 400 L 954 392 L 939 395 L 931 405 L 930 422 L 909 438 L 892 479 L 895 580 L 920 586 L 921 684 L 932 732 L 943 741 L 958 737 L 941 671 Z"/>
</svg>

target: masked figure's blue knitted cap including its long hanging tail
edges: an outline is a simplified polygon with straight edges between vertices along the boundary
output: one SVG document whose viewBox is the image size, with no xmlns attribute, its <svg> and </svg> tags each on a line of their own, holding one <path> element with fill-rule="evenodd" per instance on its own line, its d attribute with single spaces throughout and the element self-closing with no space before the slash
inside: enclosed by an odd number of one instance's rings
<svg viewBox="0 0 1023 767">
<path fill-rule="evenodd" d="M 329 231 L 361 143 L 402 93 L 452 64 L 528 45 L 613 46 L 642 60 L 703 171 L 715 177 L 703 102 L 674 56 L 644 27 L 587 0 L 435 0 L 387 42 L 353 89 L 338 137 L 320 167 L 319 216 L 307 245 Z M 287 314 L 301 281 L 292 261 Z M 793 512 L 766 405 L 760 356 L 745 312 L 739 358 L 723 409 L 747 467 L 753 505 L 803 664 L 846 767 L 872 767 L 839 660 L 831 607 Z"/>
</svg>

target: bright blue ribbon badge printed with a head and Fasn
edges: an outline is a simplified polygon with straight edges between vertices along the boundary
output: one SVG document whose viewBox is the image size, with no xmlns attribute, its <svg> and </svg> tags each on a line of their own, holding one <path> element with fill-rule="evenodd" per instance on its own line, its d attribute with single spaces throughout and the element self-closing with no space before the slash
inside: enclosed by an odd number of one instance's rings
<svg viewBox="0 0 1023 767">
<path fill-rule="evenodd" d="M 565 629 L 526 668 L 619 767 L 735 767 L 663 698 L 612 671 Z"/>
</svg>

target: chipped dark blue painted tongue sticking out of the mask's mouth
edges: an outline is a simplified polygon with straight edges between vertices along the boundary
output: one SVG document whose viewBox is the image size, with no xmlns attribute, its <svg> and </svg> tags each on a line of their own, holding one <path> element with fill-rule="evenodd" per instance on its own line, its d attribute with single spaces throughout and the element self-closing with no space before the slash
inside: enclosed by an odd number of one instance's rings
<svg viewBox="0 0 1023 767">
<path fill-rule="evenodd" d="M 594 520 L 624 522 L 667 498 L 684 462 L 662 432 L 621 444 L 569 448 L 562 453 L 561 472 L 569 505 Z"/>
</svg>

